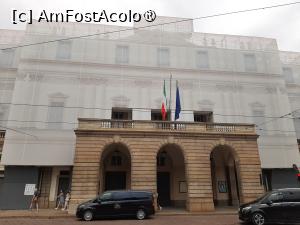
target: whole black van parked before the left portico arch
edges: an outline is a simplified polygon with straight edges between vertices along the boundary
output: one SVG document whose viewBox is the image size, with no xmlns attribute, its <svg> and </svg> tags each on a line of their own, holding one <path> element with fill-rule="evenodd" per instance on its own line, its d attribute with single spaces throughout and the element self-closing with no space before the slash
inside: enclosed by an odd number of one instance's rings
<svg viewBox="0 0 300 225">
<path fill-rule="evenodd" d="M 142 220 L 154 213 L 152 192 L 107 191 L 78 205 L 76 217 L 89 221 L 97 218 L 135 216 Z"/>
</svg>

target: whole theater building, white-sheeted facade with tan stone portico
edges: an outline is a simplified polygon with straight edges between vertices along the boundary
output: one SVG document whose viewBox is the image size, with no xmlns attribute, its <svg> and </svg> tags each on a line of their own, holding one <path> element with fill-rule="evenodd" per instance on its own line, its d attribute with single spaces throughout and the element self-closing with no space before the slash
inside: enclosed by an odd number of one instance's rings
<svg viewBox="0 0 300 225">
<path fill-rule="evenodd" d="M 44 208 L 60 190 L 74 209 L 105 190 L 146 189 L 195 212 L 299 187 L 300 54 L 271 38 L 195 32 L 191 21 L 144 25 L 0 31 L 1 48 L 24 45 L 0 52 L 1 209 L 28 208 L 33 186 Z"/>
</svg>

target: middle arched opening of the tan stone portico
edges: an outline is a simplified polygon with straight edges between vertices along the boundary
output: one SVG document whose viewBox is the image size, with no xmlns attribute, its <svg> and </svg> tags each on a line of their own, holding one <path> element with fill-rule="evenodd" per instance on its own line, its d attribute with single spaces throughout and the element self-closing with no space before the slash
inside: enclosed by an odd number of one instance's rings
<svg viewBox="0 0 300 225">
<path fill-rule="evenodd" d="M 168 144 L 157 153 L 158 202 L 163 207 L 186 207 L 187 180 L 184 155 L 179 146 Z"/>
</svg>

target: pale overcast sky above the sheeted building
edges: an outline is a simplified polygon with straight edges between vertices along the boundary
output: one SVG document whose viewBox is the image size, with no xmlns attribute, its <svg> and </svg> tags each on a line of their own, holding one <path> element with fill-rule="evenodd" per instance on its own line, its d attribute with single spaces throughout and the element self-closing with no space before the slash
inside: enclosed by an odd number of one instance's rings
<svg viewBox="0 0 300 225">
<path fill-rule="evenodd" d="M 0 29 L 24 29 L 11 22 L 12 9 L 40 12 L 101 11 L 194 18 L 216 13 L 289 3 L 296 0 L 0 0 Z M 120 25 L 120 24 L 118 24 Z M 121 24 L 128 25 L 128 24 Z M 195 31 L 276 38 L 280 50 L 300 52 L 300 4 L 194 21 Z"/>
</svg>

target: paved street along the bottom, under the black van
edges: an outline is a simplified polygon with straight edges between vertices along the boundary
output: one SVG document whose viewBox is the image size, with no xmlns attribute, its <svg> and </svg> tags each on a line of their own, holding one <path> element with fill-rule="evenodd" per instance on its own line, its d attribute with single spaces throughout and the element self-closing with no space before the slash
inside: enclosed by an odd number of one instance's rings
<svg viewBox="0 0 300 225">
<path fill-rule="evenodd" d="M 3 218 L 0 219 L 2 225 L 79 225 L 79 224 L 101 224 L 101 225 L 236 225 L 240 224 L 236 215 L 193 215 L 193 216 L 155 216 L 146 220 L 135 219 L 113 219 L 96 220 L 85 222 L 76 218 Z"/>
</svg>

